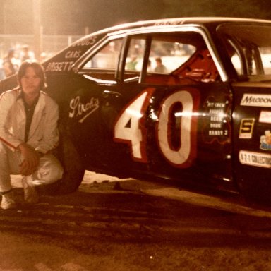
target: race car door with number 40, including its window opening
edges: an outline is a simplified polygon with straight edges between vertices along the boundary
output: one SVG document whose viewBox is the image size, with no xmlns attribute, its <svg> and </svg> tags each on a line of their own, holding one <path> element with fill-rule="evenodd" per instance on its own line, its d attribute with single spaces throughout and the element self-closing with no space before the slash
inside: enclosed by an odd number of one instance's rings
<svg viewBox="0 0 271 271">
<path fill-rule="evenodd" d="M 166 69 L 155 70 L 158 56 Z M 131 35 L 122 59 L 119 83 L 108 91 L 109 107 L 119 108 L 111 167 L 176 183 L 184 176 L 232 183 L 231 90 L 200 33 Z"/>
</svg>

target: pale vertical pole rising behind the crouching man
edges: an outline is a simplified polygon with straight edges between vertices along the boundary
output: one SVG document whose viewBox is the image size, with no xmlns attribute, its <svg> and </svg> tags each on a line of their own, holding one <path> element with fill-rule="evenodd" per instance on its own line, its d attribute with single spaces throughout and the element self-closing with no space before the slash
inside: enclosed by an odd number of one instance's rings
<svg viewBox="0 0 271 271">
<path fill-rule="evenodd" d="M 34 24 L 34 53 L 37 61 L 40 61 L 42 53 L 42 24 L 41 24 L 41 0 L 32 0 L 33 24 Z"/>
</svg>

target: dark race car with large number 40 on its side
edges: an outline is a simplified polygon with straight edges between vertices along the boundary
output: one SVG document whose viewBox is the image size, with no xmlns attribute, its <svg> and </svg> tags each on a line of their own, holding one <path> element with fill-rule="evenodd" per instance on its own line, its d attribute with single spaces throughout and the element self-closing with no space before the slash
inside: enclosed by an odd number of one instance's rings
<svg viewBox="0 0 271 271">
<path fill-rule="evenodd" d="M 271 21 L 117 25 L 43 66 L 60 108 L 61 193 L 90 170 L 271 202 Z"/>
</svg>

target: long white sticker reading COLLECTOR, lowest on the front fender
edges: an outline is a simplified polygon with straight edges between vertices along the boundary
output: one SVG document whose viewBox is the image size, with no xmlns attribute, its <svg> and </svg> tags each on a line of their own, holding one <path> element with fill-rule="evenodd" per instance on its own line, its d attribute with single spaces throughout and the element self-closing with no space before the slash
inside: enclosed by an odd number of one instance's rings
<svg viewBox="0 0 271 271">
<path fill-rule="evenodd" d="M 249 166 L 271 168 L 271 155 L 265 153 L 240 150 L 239 161 Z"/>
</svg>

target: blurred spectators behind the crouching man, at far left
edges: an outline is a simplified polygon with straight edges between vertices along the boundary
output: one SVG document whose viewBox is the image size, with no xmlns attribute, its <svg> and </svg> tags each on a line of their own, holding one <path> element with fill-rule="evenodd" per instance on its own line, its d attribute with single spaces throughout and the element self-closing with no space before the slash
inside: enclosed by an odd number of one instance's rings
<svg viewBox="0 0 271 271">
<path fill-rule="evenodd" d="M 25 44 L 20 49 L 8 49 L 6 56 L 0 60 L 0 80 L 16 74 L 25 60 L 35 60 L 35 54 L 28 45 Z"/>
</svg>

